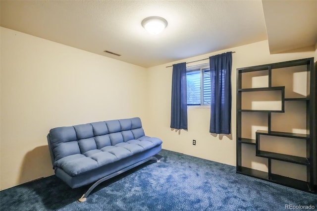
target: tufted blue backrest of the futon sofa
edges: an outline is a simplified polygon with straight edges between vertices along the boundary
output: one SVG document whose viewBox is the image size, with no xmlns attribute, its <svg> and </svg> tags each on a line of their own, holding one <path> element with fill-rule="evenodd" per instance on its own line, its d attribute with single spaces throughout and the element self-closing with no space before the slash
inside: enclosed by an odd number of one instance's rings
<svg viewBox="0 0 317 211">
<path fill-rule="evenodd" d="M 52 163 L 66 156 L 114 146 L 144 135 L 138 117 L 56 127 L 48 135 Z"/>
</svg>

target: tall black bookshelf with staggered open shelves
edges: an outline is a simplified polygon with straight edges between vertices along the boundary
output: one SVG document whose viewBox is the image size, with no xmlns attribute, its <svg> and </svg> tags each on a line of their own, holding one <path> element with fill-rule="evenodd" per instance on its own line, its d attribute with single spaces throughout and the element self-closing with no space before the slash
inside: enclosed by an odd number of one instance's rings
<svg viewBox="0 0 317 211">
<path fill-rule="evenodd" d="M 306 71 L 308 73 L 308 83 L 310 88 L 310 95 L 307 97 L 299 98 L 286 98 L 285 97 L 285 87 L 284 86 L 272 86 L 272 70 L 277 68 L 286 68 L 293 66 L 306 65 Z M 316 65 L 317 68 L 317 65 Z M 258 65 L 252 67 L 238 68 L 237 69 L 237 173 L 252 176 L 255 178 L 263 179 L 273 183 L 285 185 L 288 187 L 304 190 L 307 192 L 317 191 L 317 141 L 316 141 L 316 124 L 317 124 L 317 114 L 316 114 L 316 68 L 314 69 L 314 58 L 305 58 L 292 61 L 284 61 L 272 64 Z M 242 88 L 242 75 L 244 73 L 255 72 L 255 71 L 267 71 L 268 86 L 261 88 Z M 281 92 L 281 109 L 280 110 L 263 110 L 263 109 L 242 109 L 242 93 L 243 92 L 255 92 L 261 94 L 263 91 L 280 91 Z M 289 133 L 283 131 L 271 131 L 273 113 L 283 113 L 285 112 L 285 102 L 303 102 L 306 104 L 306 123 L 309 134 L 301 133 Z M 301 103 L 302 104 L 302 103 Z M 267 130 L 257 130 L 255 132 L 256 139 L 251 139 L 250 137 L 242 136 L 242 115 L 245 112 L 260 112 L 264 113 L 267 118 Z M 293 112 L 293 111 L 292 111 Z M 295 112 L 295 111 L 294 111 Z M 277 115 L 277 114 L 276 114 Z M 291 121 L 296 121 L 293 119 Z M 284 137 L 286 140 L 295 139 L 295 141 L 306 142 L 306 157 L 299 157 L 294 155 L 280 154 L 276 152 L 267 152 L 261 150 L 261 137 L 270 136 L 272 140 L 274 137 Z M 293 140 L 294 141 L 294 140 Z M 253 169 L 242 164 L 242 146 L 249 145 L 255 147 L 255 156 L 267 159 L 268 171 L 261 171 Z M 307 180 L 302 181 L 287 177 L 285 175 L 278 175 L 276 172 L 272 173 L 271 163 L 272 160 L 279 160 L 283 162 L 295 163 L 298 165 L 304 165 L 307 169 Z"/>
</svg>

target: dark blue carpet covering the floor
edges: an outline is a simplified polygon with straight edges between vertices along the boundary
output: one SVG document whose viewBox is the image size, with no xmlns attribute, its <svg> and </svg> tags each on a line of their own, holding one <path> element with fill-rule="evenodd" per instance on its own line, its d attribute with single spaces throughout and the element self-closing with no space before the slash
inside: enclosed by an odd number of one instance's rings
<svg viewBox="0 0 317 211">
<path fill-rule="evenodd" d="M 70 189 L 55 176 L 0 192 L 1 211 L 285 210 L 314 205 L 317 195 L 237 174 L 234 166 L 162 150 L 147 162 L 98 186 Z"/>
</svg>

